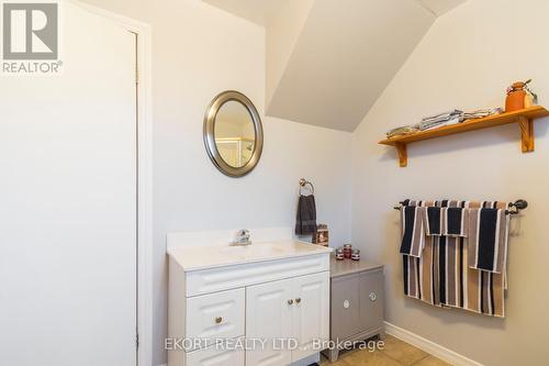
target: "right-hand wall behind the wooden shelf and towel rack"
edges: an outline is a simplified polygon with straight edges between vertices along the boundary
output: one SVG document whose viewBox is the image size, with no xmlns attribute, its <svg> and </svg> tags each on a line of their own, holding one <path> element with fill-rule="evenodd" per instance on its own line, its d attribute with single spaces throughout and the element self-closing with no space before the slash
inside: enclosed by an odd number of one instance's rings
<svg viewBox="0 0 549 366">
<path fill-rule="evenodd" d="M 502 106 L 505 88 L 530 77 L 547 106 L 548 15 L 547 0 L 470 0 L 447 13 L 354 136 L 352 240 L 386 264 L 386 320 L 485 365 L 549 363 L 549 120 L 537 121 L 531 154 L 520 153 L 517 125 L 413 144 L 407 168 L 377 142 L 429 113 Z M 505 320 L 404 298 L 392 207 L 406 197 L 528 200 L 524 217 L 513 219 Z"/>
</svg>

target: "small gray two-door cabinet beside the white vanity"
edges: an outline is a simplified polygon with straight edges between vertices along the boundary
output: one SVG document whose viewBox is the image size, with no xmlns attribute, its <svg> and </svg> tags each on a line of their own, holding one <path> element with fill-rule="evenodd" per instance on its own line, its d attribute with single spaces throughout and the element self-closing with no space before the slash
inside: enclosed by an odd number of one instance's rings
<svg viewBox="0 0 549 366">
<path fill-rule="evenodd" d="M 368 262 L 330 262 L 330 331 L 334 342 L 384 337 L 383 266 Z M 326 352 L 337 361 L 339 350 Z"/>
</svg>

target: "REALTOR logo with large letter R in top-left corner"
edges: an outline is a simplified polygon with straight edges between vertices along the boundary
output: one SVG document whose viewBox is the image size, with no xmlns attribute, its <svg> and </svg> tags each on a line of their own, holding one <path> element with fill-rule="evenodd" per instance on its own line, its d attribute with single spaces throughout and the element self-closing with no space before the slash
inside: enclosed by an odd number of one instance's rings
<svg viewBox="0 0 549 366">
<path fill-rule="evenodd" d="M 59 4 L 2 1 L 2 74 L 57 74 Z"/>
</svg>

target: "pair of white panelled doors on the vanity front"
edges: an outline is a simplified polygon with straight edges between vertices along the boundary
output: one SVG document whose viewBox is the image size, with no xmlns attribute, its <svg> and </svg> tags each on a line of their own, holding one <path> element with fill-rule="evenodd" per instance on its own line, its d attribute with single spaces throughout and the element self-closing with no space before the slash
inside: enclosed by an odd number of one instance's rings
<svg viewBox="0 0 549 366">
<path fill-rule="evenodd" d="M 268 341 L 246 353 L 246 365 L 289 365 L 317 353 L 314 340 L 328 340 L 328 298 L 326 271 L 246 288 L 246 336 Z M 281 340 L 295 343 L 284 350 Z"/>
</svg>

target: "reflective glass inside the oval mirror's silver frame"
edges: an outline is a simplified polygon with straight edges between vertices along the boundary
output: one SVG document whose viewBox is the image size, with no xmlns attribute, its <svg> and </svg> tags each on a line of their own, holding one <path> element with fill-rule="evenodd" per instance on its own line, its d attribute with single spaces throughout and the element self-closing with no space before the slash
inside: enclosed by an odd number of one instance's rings
<svg viewBox="0 0 549 366">
<path fill-rule="evenodd" d="M 235 168 L 245 166 L 254 154 L 256 132 L 247 108 L 228 100 L 221 106 L 214 124 L 215 145 L 223 160 Z"/>
</svg>

